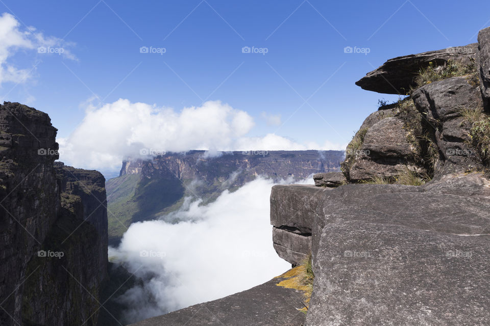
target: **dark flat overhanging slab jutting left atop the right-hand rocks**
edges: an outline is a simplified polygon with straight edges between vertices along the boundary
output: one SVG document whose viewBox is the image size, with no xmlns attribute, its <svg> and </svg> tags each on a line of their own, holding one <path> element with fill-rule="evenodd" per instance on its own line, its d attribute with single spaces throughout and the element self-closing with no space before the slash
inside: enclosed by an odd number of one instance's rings
<svg viewBox="0 0 490 326">
<path fill-rule="evenodd" d="M 356 85 L 368 91 L 405 95 L 410 86 L 413 85 L 413 78 L 416 73 L 421 68 L 427 67 L 429 62 L 433 62 L 435 65 L 442 65 L 448 60 L 454 59 L 461 60 L 462 63 L 469 63 L 471 57 L 477 57 L 477 53 L 478 43 L 472 43 L 466 46 L 449 47 L 442 50 L 397 57 L 386 61 L 379 68 L 367 73 L 356 82 Z"/>
</svg>

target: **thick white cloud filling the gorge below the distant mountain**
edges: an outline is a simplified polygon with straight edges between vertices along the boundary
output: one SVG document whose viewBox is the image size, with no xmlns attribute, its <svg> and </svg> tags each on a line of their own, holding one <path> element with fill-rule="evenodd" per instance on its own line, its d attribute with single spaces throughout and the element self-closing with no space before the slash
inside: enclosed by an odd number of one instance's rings
<svg viewBox="0 0 490 326">
<path fill-rule="evenodd" d="M 272 245 L 272 186 L 258 178 L 208 205 L 187 202 L 161 220 L 132 224 L 109 251 L 145 280 L 118 298 L 132 307 L 128 321 L 246 290 L 289 269 Z"/>
</svg>

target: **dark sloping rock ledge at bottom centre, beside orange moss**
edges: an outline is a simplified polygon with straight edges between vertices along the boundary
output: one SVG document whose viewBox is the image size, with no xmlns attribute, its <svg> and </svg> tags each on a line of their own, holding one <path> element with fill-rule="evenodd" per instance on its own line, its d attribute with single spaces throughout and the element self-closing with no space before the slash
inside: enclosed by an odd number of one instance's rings
<svg viewBox="0 0 490 326">
<path fill-rule="evenodd" d="M 273 279 L 250 290 L 145 319 L 132 326 L 301 326 L 302 294 Z"/>
</svg>

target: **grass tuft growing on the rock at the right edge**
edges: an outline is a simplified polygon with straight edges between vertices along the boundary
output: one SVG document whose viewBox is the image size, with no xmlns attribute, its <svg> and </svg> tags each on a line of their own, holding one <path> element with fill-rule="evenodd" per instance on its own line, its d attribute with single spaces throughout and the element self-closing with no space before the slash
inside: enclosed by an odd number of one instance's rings
<svg viewBox="0 0 490 326">
<path fill-rule="evenodd" d="M 478 150 L 481 159 L 490 163 L 490 116 L 479 108 L 461 107 L 461 117 L 470 123 L 470 137 L 472 145 Z"/>
</svg>

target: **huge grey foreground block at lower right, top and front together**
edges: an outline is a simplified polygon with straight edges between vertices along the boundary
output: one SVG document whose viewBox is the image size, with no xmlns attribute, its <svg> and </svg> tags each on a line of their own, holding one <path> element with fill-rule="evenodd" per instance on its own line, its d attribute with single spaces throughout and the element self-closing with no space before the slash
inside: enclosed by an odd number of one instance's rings
<svg viewBox="0 0 490 326">
<path fill-rule="evenodd" d="M 319 194 L 307 324 L 485 324 L 489 184 L 469 174 Z"/>
</svg>

